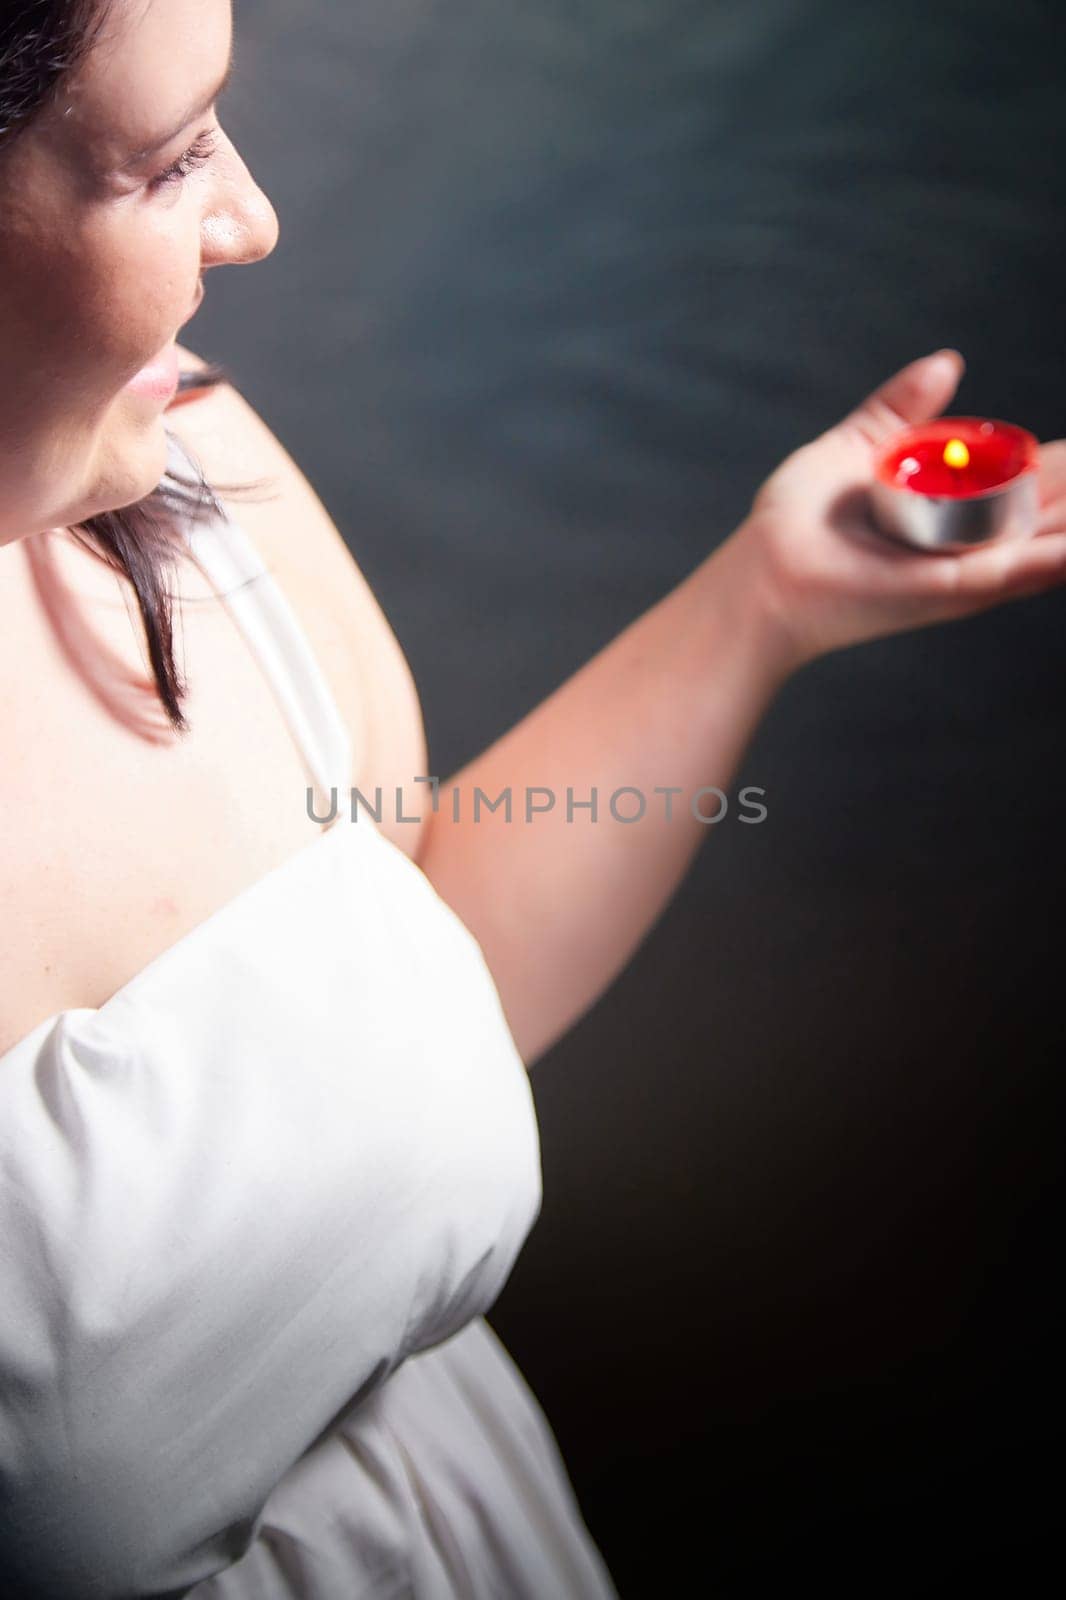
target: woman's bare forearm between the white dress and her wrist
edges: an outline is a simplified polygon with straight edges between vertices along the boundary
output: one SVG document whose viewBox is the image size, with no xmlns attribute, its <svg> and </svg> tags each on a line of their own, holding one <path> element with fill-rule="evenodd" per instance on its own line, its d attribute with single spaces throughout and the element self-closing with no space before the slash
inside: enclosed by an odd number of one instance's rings
<svg viewBox="0 0 1066 1600">
<path fill-rule="evenodd" d="M 527 1064 L 589 1010 L 658 920 L 709 830 L 693 795 L 727 790 L 789 670 L 730 539 L 440 786 L 418 862 L 479 939 Z M 639 821 L 611 814 L 626 787 L 645 802 Z M 656 794 L 671 787 L 680 792 Z M 485 802 L 475 819 L 475 789 L 491 802 L 509 789 L 512 819 Z M 527 819 L 536 789 L 554 805 Z M 592 790 L 595 821 L 579 805 Z M 711 794 L 699 806 L 719 810 Z M 637 816 L 640 800 L 619 795 L 616 810 Z"/>
</svg>

